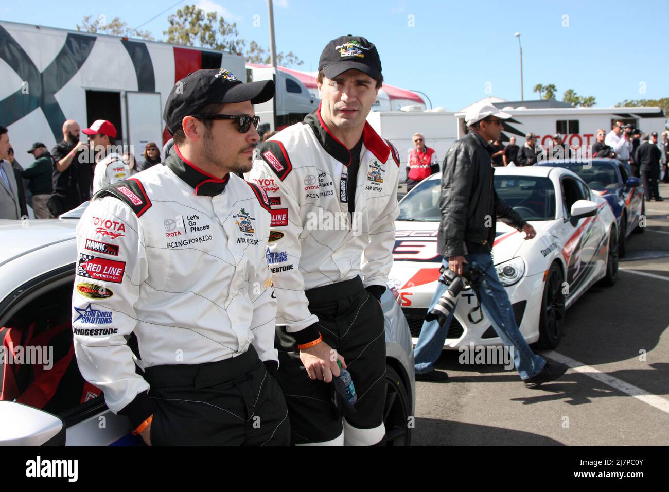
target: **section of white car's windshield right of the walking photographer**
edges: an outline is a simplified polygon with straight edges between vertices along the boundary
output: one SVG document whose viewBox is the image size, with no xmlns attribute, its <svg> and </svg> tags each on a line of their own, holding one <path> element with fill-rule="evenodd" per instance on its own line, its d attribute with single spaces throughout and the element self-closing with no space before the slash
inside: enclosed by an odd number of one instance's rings
<svg viewBox="0 0 669 492">
<path fill-rule="evenodd" d="M 495 190 L 524 220 L 555 219 L 555 189 L 547 177 L 495 176 Z"/>
</svg>

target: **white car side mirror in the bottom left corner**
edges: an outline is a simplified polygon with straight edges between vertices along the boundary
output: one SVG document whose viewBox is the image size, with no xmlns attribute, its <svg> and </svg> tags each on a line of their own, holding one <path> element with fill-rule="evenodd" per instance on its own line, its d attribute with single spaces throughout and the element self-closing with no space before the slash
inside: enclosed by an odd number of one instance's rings
<svg viewBox="0 0 669 492">
<path fill-rule="evenodd" d="M 39 408 L 0 402 L 0 446 L 65 446 L 65 424 Z"/>
</svg>

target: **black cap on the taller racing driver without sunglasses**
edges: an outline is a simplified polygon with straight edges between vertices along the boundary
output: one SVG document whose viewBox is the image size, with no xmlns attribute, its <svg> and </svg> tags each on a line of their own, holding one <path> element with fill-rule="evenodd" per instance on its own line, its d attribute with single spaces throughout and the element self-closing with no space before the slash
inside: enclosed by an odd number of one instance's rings
<svg viewBox="0 0 669 492">
<path fill-rule="evenodd" d="M 341 36 L 332 39 L 318 61 L 318 70 L 334 78 L 347 70 L 360 70 L 377 80 L 381 75 L 381 58 L 376 46 L 361 36 Z"/>
</svg>

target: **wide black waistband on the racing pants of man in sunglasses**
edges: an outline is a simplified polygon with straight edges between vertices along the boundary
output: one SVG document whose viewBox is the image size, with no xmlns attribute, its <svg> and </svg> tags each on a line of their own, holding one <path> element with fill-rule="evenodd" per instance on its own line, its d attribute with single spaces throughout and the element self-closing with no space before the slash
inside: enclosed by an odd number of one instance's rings
<svg viewBox="0 0 669 492">
<path fill-rule="evenodd" d="M 209 388 L 233 382 L 262 364 L 253 345 L 237 357 L 203 364 L 155 365 L 147 367 L 144 377 L 153 388 Z"/>
</svg>

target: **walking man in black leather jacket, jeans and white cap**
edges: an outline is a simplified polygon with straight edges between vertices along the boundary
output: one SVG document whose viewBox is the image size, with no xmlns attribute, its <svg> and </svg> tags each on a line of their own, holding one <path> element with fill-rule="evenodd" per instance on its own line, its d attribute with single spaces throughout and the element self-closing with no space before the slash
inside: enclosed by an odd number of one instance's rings
<svg viewBox="0 0 669 492">
<path fill-rule="evenodd" d="M 490 254 L 496 225 L 491 218 L 498 218 L 524 232 L 525 239 L 532 239 L 537 234 L 531 225 L 498 197 L 493 187 L 494 169 L 490 166 L 493 149 L 488 141 L 500 137 L 501 120 L 510 116 L 492 104 L 468 111 L 466 123 L 469 133 L 453 144 L 444 161 L 440 197 L 442 222 L 437 250 L 444 256 L 444 269 L 450 268 L 452 272 L 462 275 L 464 264 L 468 264 L 482 274 L 481 282 L 473 282 L 482 311 L 504 345 L 514 348 L 514 365 L 525 386 L 537 388 L 565 374 L 567 366 L 544 360 L 527 345 L 516 325 L 508 294 L 497 277 Z M 431 310 L 446 288 L 446 284 L 438 282 L 430 303 Z M 443 325 L 436 320 L 423 323 L 414 353 L 416 380 L 439 381 L 448 378 L 446 373 L 436 371 L 433 364 L 442 352 L 454 313 L 455 307 Z"/>
</svg>

